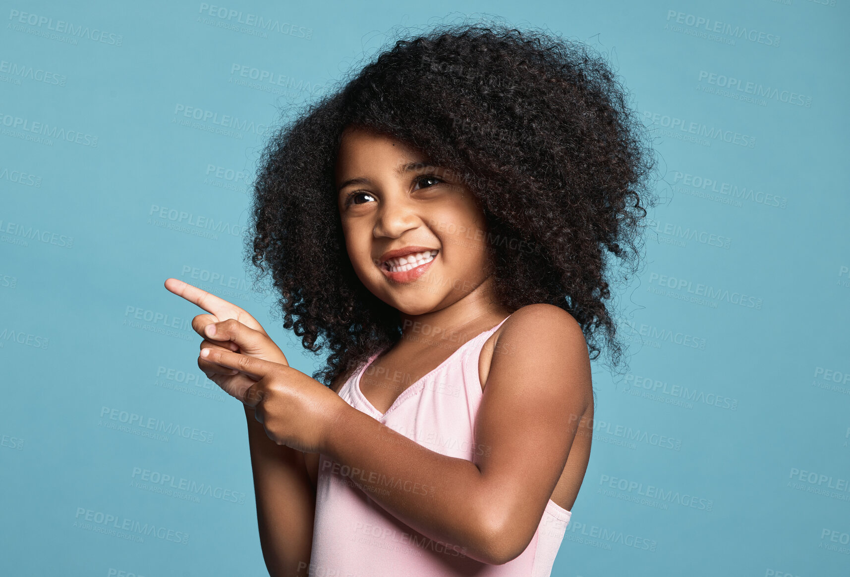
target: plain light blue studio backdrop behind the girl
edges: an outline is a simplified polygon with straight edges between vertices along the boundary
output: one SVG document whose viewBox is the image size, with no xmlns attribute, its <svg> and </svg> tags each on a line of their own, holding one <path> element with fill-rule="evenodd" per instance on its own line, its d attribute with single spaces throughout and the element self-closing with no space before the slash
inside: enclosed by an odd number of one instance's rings
<svg viewBox="0 0 850 577">
<path fill-rule="evenodd" d="M 479 13 L 608 53 L 664 176 L 553 575 L 850 574 L 845 0 L 0 6 L 0 574 L 266 574 L 244 413 L 162 283 L 313 373 L 242 260 L 263 136 Z"/>
</svg>

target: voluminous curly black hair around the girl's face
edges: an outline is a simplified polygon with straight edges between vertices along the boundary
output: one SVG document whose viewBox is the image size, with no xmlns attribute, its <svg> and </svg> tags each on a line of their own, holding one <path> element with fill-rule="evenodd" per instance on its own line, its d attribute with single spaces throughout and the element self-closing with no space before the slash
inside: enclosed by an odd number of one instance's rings
<svg viewBox="0 0 850 577">
<path fill-rule="evenodd" d="M 655 158 L 604 58 L 479 23 L 408 36 L 370 60 L 275 129 L 254 182 L 247 253 L 258 278 L 272 274 L 283 327 L 307 350 L 331 350 L 313 378 L 329 385 L 401 336 L 399 312 L 365 289 L 345 250 L 334 166 L 347 126 L 462 175 L 493 239 L 501 304 L 563 308 L 591 358 L 602 337 L 618 364 L 609 260 L 639 261 Z"/>
</svg>

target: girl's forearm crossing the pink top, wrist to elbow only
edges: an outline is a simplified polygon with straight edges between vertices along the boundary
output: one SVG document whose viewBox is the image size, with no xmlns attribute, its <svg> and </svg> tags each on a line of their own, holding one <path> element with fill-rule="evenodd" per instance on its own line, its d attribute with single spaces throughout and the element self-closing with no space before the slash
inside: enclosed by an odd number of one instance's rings
<svg viewBox="0 0 850 577">
<path fill-rule="evenodd" d="M 430 451 L 354 407 L 339 413 L 322 452 L 395 518 L 492 563 L 492 496 L 473 462 Z"/>
</svg>

